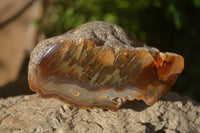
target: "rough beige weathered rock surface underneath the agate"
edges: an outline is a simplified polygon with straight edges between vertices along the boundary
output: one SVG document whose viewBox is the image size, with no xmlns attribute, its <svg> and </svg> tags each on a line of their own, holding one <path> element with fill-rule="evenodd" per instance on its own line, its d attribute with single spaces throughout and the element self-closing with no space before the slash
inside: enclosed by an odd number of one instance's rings
<svg viewBox="0 0 200 133">
<path fill-rule="evenodd" d="M 78 109 L 37 95 L 0 100 L 0 132 L 199 133 L 200 105 L 168 93 L 153 106 L 127 103 L 118 112 Z"/>
</svg>

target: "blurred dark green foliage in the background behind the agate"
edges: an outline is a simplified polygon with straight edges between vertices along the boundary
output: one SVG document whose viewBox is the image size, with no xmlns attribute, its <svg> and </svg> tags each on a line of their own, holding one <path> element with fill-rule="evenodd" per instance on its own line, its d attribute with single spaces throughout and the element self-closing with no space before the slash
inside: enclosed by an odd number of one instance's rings
<svg viewBox="0 0 200 133">
<path fill-rule="evenodd" d="M 172 87 L 200 101 L 200 0 L 47 0 L 38 25 L 47 37 L 89 21 L 120 25 L 139 40 L 185 58 Z"/>
</svg>

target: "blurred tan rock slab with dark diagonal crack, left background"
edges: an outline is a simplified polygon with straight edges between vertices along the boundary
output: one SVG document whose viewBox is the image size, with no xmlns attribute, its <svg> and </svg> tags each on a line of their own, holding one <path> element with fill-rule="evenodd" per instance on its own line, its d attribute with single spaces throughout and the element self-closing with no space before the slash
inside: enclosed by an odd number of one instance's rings
<svg viewBox="0 0 200 133">
<path fill-rule="evenodd" d="M 30 1 L 0 0 L 0 87 L 17 79 L 24 58 L 35 45 L 38 32 L 35 21 L 41 16 L 42 1 L 35 0 L 10 23 L 3 27 L 1 24 L 15 16 Z"/>
</svg>

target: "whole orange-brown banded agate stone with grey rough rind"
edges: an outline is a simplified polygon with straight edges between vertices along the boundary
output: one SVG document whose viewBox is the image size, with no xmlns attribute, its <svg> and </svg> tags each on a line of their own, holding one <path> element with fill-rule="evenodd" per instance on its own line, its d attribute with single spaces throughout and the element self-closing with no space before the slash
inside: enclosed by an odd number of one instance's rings
<svg viewBox="0 0 200 133">
<path fill-rule="evenodd" d="M 42 97 L 81 108 L 113 111 L 127 101 L 154 104 L 184 68 L 182 56 L 162 53 L 108 22 L 89 22 L 40 42 L 28 80 Z"/>
</svg>

